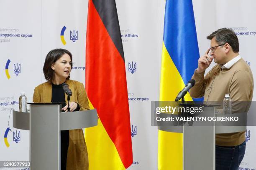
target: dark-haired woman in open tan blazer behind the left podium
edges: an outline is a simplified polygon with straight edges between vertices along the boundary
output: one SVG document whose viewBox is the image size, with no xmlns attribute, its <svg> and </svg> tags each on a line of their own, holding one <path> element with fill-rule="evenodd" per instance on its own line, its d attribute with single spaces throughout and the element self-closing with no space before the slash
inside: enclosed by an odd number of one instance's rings
<svg viewBox="0 0 256 170">
<path fill-rule="evenodd" d="M 70 111 L 89 110 L 89 103 L 84 85 L 81 82 L 69 80 L 72 69 L 72 54 L 68 50 L 51 50 L 44 62 L 44 77 L 47 82 L 38 85 L 34 90 L 33 102 L 67 103 L 67 95 L 62 84 L 67 83 L 72 90 L 70 96 Z M 63 107 L 64 106 L 64 107 Z M 67 105 L 62 111 L 67 112 Z M 61 131 L 61 170 L 88 170 L 88 154 L 82 129 Z"/>
</svg>

